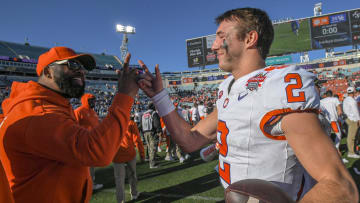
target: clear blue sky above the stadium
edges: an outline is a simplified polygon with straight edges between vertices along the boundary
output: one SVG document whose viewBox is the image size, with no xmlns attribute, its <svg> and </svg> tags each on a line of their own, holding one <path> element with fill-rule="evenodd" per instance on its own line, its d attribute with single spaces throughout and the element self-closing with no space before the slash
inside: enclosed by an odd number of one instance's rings
<svg viewBox="0 0 360 203">
<path fill-rule="evenodd" d="M 120 56 L 117 23 L 133 25 L 132 63 L 142 59 L 164 71 L 186 71 L 186 39 L 213 34 L 226 10 L 257 7 L 271 19 L 313 16 L 313 0 L 2 0 L 0 40 Z M 360 8 L 359 0 L 322 1 L 323 14 Z M 310 53 L 310 58 L 323 52 Z M 194 70 L 194 69 L 191 69 Z"/>
</svg>

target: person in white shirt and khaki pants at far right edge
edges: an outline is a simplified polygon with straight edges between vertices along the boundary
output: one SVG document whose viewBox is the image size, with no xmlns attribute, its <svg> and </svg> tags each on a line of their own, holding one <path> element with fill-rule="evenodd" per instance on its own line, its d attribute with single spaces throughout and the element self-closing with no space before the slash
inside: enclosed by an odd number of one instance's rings
<svg viewBox="0 0 360 203">
<path fill-rule="evenodd" d="M 354 99 L 355 88 L 348 87 L 346 91 L 348 96 L 344 99 L 343 109 L 345 115 L 347 116 L 346 124 L 349 126 L 347 136 L 348 157 L 358 159 L 360 156 L 354 153 L 354 144 L 356 132 L 360 125 L 360 115 L 357 102 Z"/>
</svg>

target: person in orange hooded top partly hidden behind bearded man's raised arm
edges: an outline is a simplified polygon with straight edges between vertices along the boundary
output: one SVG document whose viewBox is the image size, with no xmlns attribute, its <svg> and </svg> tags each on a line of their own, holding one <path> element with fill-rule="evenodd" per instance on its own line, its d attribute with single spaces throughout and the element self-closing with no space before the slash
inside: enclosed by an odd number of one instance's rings
<svg viewBox="0 0 360 203">
<path fill-rule="evenodd" d="M 99 117 L 94 111 L 96 97 L 92 94 L 85 93 L 81 97 L 81 106 L 74 110 L 76 120 L 79 124 L 89 130 L 100 124 Z M 95 183 L 95 168 L 90 167 L 90 175 L 93 181 L 93 190 L 103 187 L 103 184 Z"/>
</svg>

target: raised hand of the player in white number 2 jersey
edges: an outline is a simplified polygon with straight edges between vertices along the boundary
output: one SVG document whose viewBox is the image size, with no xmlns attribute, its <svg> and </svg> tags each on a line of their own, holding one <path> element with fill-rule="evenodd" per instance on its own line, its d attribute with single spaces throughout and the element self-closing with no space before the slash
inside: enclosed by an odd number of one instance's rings
<svg viewBox="0 0 360 203">
<path fill-rule="evenodd" d="M 160 75 L 159 64 L 155 66 L 155 76 L 150 73 L 142 60 L 138 61 L 145 73 L 139 78 L 138 84 L 148 97 L 153 97 L 164 89 Z"/>
</svg>

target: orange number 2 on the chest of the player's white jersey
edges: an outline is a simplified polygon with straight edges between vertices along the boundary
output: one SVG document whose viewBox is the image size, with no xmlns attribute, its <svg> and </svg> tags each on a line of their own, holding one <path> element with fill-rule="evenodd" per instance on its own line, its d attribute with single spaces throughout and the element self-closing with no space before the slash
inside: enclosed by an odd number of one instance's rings
<svg viewBox="0 0 360 203">
<path fill-rule="evenodd" d="M 218 132 L 220 133 L 220 141 L 221 141 L 221 143 L 219 143 L 219 145 L 220 145 L 219 154 L 223 157 L 226 157 L 227 152 L 228 152 L 228 145 L 226 142 L 226 138 L 229 134 L 229 129 L 226 126 L 226 123 L 224 121 L 219 120 Z M 220 177 L 225 182 L 230 184 L 230 164 L 223 162 L 223 167 L 221 167 L 220 161 L 219 161 L 219 174 L 220 174 Z"/>
</svg>

